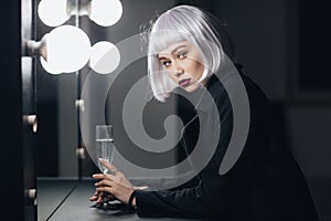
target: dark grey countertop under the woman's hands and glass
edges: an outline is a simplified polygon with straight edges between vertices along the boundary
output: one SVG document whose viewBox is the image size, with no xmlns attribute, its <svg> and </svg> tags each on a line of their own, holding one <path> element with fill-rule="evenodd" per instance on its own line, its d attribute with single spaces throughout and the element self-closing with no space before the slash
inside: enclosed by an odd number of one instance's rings
<svg viewBox="0 0 331 221">
<path fill-rule="evenodd" d="M 94 193 L 94 180 L 38 180 L 39 221 L 99 221 L 99 220 L 185 220 L 170 218 L 139 218 L 135 210 L 124 204 L 117 209 L 95 208 L 88 198 Z"/>
</svg>

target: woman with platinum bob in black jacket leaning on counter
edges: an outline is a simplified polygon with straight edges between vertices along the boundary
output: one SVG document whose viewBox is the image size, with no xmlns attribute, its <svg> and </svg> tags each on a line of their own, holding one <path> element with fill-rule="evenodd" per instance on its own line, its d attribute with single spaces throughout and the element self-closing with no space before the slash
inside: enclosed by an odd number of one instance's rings
<svg viewBox="0 0 331 221">
<path fill-rule="evenodd" d="M 167 102 L 177 92 L 189 98 L 195 115 L 184 122 L 180 145 L 188 156 L 201 146 L 212 155 L 190 181 L 158 191 L 139 190 L 103 161 L 114 173 L 94 175 L 99 181 L 90 200 L 99 203 L 100 192 L 105 191 L 137 209 L 141 217 L 318 220 L 299 167 L 286 148 L 271 141 L 273 120 L 266 96 L 241 73 L 239 65 L 231 64 L 234 53 L 217 22 L 199 8 L 179 6 L 161 14 L 148 34 L 148 71 L 154 97 Z M 231 88 L 229 82 L 237 76 L 231 74 L 232 69 L 239 73 L 246 88 L 249 131 L 244 137 L 245 146 L 232 157 L 234 165 L 221 172 L 235 133 L 233 105 L 235 99 L 245 98 L 235 93 L 237 88 Z M 183 112 L 185 115 L 185 109 L 179 110 Z"/>
</svg>

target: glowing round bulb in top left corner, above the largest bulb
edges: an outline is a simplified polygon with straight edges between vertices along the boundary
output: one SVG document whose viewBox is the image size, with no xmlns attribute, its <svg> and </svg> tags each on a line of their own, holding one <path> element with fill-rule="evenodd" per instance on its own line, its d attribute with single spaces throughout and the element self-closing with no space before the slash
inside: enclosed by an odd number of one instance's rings
<svg viewBox="0 0 331 221">
<path fill-rule="evenodd" d="M 49 27 L 58 27 L 70 19 L 67 0 L 42 0 L 38 6 L 39 18 Z"/>
</svg>

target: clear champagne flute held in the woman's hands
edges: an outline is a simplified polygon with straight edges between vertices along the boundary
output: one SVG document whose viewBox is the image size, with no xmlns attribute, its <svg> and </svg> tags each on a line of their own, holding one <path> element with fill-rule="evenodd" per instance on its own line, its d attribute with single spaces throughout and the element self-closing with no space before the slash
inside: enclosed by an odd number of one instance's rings
<svg viewBox="0 0 331 221">
<path fill-rule="evenodd" d="M 98 168 L 100 171 L 106 175 L 108 168 L 104 166 L 99 159 L 104 159 L 107 162 L 113 162 L 113 152 L 114 152 L 114 127 L 113 125 L 97 125 L 96 126 L 96 157 L 98 161 Z M 109 207 L 106 192 L 104 192 L 103 201 L 100 208 L 106 209 Z"/>
</svg>

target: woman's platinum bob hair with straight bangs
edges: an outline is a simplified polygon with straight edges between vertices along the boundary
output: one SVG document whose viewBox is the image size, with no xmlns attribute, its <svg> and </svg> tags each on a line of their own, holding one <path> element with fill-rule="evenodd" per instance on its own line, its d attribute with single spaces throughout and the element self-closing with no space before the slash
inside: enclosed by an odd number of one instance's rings
<svg viewBox="0 0 331 221">
<path fill-rule="evenodd" d="M 162 50 L 174 43 L 189 41 L 201 52 L 205 70 L 199 82 L 220 71 L 225 53 L 221 44 L 222 33 L 213 19 L 196 7 L 178 6 L 162 13 L 148 30 L 148 76 L 152 94 L 158 101 L 166 102 L 178 87 L 158 57 Z"/>
</svg>

